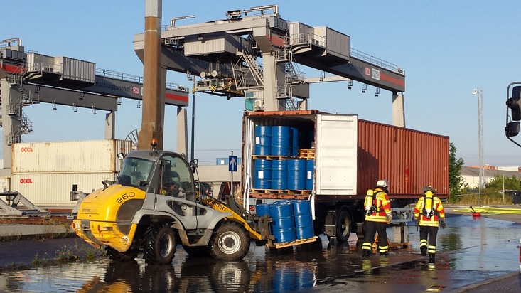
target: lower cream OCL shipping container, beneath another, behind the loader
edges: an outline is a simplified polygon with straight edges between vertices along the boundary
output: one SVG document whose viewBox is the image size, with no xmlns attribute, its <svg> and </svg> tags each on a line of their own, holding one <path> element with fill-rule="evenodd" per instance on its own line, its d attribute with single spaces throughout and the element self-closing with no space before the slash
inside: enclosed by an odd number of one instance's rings
<svg viewBox="0 0 521 293">
<path fill-rule="evenodd" d="M 115 181 L 117 173 L 48 173 L 14 174 L 11 176 L 11 191 L 18 191 L 36 206 L 76 206 L 70 200 L 70 191 L 90 193 L 103 188 L 105 180 Z"/>
</svg>

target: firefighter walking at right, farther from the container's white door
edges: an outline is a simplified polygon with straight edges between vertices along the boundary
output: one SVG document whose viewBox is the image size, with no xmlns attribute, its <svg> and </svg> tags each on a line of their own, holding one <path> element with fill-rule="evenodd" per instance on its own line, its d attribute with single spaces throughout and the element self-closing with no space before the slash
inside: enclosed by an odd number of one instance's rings
<svg viewBox="0 0 521 293">
<path fill-rule="evenodd" d="M 421 255 L 429 253 L 429 263 L 436 261 L 436 235 L 438 234 L 439 221 L 441 229 L 445 229 L 445 211 L 440 199 L 434 196 L 436 189 L 431 186 L 422 188 L 424 193 L 414 206 L 414 219 L 419 225 L 419 248 Z"/>
</svg>

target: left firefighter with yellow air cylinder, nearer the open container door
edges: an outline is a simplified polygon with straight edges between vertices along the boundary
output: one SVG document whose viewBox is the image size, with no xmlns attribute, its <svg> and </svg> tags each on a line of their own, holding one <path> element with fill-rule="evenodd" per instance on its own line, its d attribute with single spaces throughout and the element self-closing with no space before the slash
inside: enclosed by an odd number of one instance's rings
<svg viewBox="0 0 521 293">
<path fill-rule="evenodd" d="M 368 190 L 365 197 L 365 238 L 362 244 L 362 257 L 371 255 L 372 243 L 375 233 L 378 233 L 378 250 L 380 255 L 389 255 L 389 244 L 387 242 L 387 225 L 391 223 L 391 203 L 387 180 L 379 180 L 375 190 Z"/>
</svg>

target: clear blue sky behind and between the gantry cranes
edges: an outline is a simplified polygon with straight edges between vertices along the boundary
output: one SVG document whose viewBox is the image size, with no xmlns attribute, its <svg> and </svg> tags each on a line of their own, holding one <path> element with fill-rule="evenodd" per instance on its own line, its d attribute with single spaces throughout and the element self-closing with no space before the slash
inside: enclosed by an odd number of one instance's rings
<svg viewBox="0 0 521 293">
<path fill-rule="evenodd" d="M 134 53 L 134 34 L 144 31 L 144 1 L 13 1 L 1 6 L 0 39 L 21 38 L 26 51 L 96 63 L 97 68 L 143 75 Z M 298 4 L 296 4 L 298 3 Z M 224 19 L 225 12 L 275 1 L 163 1 L 162 23 L 176 16 L 196 18 L 178 24 Z M 520 1 L 280 1 L 287 21 L 328 26 L 350 36 L 350 46 L 405 70 L 406 127 L 450 137 L 456 156 L 479 164 L 478 101 L 483 89 L 484 162 L 521 166 L 520 149 L 504 134 L 506 88 L 520 81 Z M 299 67 L 306 77 L 320 72 Z M 186 74 L 168 73 L 168 81 L 191 87 Z M 362 84 L 311 85 L 309 109 L 358 114 L 360 119 L 392 124 L 392 94 Z M 190 95 L 191 97 L 191 95 Z M 196 95 L 195 156 L 215 161 L 230 151 L 240 154 L 244 100 Z M 116 112 L 116 138 L 141 127 L 136 101 L 124 100 Z M 24 111 L 33 132 L 24 142 L 104 138 L 104 112 L 49 104 Z M 188 114 L 191 113 L 191 102 Z M 165 149 L 176 147 L 176 109 L 166 108 Z M 188 118 L 190 120 L 190 116 Z M 190 127 L 190 126 L 189 126 Z M 521 138 L 520 138 L 521 140 Z"/>
</svg>

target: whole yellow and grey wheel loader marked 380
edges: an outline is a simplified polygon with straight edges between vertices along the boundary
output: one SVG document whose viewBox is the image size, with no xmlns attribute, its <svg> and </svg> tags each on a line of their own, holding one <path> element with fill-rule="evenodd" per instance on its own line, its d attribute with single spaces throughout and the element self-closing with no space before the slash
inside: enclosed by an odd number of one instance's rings
<svg viewBox="0 0 521 293">
<path fill-rule="evenodd" d="M 267 243 L 269 229 L 259 228 L 258 217 L 205 194 L 194 179 L 197 161 L 152 146 L 124 156 L 117 181 L 82 200 L 72 222 L 80 238 L 104 247 L 112 260 L 133 260 L 142 252 L 154 265 L 170 263 L 178 243 L 189 255 L 219 260 L 242 259 L 251 240 Z"/>
</svg>

